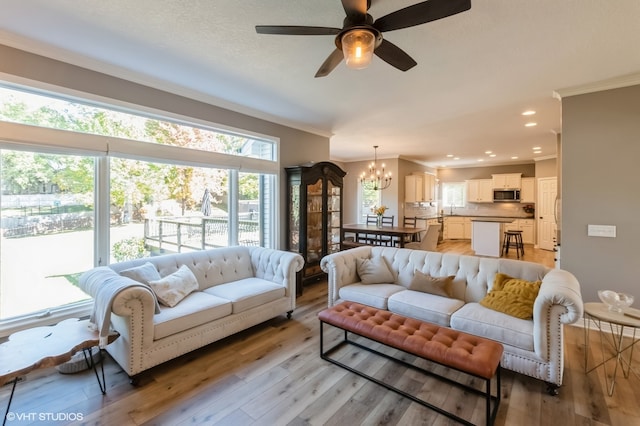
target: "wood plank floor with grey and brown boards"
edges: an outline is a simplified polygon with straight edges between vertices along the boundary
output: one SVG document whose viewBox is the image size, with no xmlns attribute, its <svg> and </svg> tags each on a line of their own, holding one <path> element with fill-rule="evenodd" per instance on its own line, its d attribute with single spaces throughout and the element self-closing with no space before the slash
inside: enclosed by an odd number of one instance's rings
<svg viewBox="0 0 640 426">
<path fill-rule="evenodd" d="M 445 243 L 439 250 L 449 251 L 457 244 Z M 547 258 L 546 253 L 527 249 L 527 256 Z M 311 284 L 298 299 L 291 320 L 280 316 L 167 362 L 148 371 L 139 387 L 132 387 L 122 370 L 107 358 L 105 396 L 90 371 L 74 375 L 61 375 L 54 369 L 31 373 L 18 384 L 11 409 L 30 421 L 7 424 L 456 424 L 320 359 L 316 314 L 326 304 L 326 282 Z M 331 330 L 325 336 L 330 343 L 339 333 Z M 549 396 L 541 381 L 505 370 L 496 424 L 639 425 L 638 377 L 619 377 L 613 397 L 608 397 L 602 369 L 584 373 L 583 329 L 567 326 L 565 336 L 565 377 L 560 395 Z M 595 334 L 592 337 L 595 342 Z M 592 345 L 590 352 L 599 356 L 599 346 Z M 484 424 L 483 403 L 474 395 L 357 348 L 342 356 L 377 377 Z M 640 370 L 637 360 L 634 365 Z M 612 369 L 613 362 L 609 373 Z M 447 374 L 468 381 L 461 373 Z M 9 386 L 0 388 L 0 415 L 9 391 Z M 43 422 L 42 416 L 80 421 Z"/>
</svg>

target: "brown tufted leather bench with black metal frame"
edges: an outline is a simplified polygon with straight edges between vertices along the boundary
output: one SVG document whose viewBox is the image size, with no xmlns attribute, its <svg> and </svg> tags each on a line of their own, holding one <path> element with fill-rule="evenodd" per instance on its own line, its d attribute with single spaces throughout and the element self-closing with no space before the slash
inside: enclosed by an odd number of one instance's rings
<svg viewBox="0 0 640 426">
<path fill-rule="evenodd" d="M 322 359 L 346 368 L 359 376 L 378 383 L 389 390 L 397 392 L 460 423 L 472 424 L 453 413 L 436 407 L 427 401 L 419 399 L 414 395 L 408 394 L 401 389 L 393 387 L 388 383 L 382 382 L 375 377 L 371 377 L 329 357 L 331 352 L 345 344 L 352 344 L 382 355 L 385 358 L 397 361 L 407 367 L 439 377 L 448 383 L 461 386 L 473 393 L 484 395 L 486 398 L 486 424 L 493 424 L 500 405 L 500 359 L 502 358 L 503 351 L 500 343 L 354 302 L 343 302 L 327 308 L 318 313 L 318 317 L 320 319 L 320 356 Z M 344 330 L 344 339 L 327 351 L 325 351 L 323 347 L 323 324 L 325 323 Z M 348 332 L 480 378 L 485 381 L 486 390 L 482 391 L 453 381 L 447 377 L 435 374 L 432 371 L 424 370 L 413 364 L 376 351 L 354 340 L 349 340 Z M 491 381 L 494 376 L 496 377 L 497 385 L 496 394 L 492 395 Z M 493 405 L 493 410 L 491 409 L 491 405 Z"/>
</svg>

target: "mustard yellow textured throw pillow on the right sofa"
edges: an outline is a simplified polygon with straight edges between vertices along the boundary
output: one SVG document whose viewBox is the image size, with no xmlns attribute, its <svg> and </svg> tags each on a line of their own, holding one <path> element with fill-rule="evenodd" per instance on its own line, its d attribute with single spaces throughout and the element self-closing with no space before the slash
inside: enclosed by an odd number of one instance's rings
<svg viewBox="0 0 640 426">
<path fill-rule="evenodd" d="M 506 274 L 496 274 L 493 288 L 480 304 L 494 311 L 521 319 L 533 318 L 533 303 L 542 281 L 526 281 Z"/>
</svg>

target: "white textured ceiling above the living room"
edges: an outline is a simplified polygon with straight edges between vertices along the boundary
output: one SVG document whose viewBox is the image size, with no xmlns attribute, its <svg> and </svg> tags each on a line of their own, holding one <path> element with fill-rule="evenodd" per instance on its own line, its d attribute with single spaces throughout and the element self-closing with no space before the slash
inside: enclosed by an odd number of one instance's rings
<svg viewBox="0 0 640 426">
<path fill-rule="evenodd" d="M 417 2 L 373 0 L 369 13 Z M 418 62 L 413 69 L 374 58 L 365 70 L 343 63 L 325 78 L 313 76 L 334 49 L 332 36 L 258 35 L 254 27 L 341 27 L 339 0 L 0 5 L 2 44 L 330 135 L 341 161 L 368 159 L 373 145 L 379 157 L 431 166 L 552 156 L 561 131 L 554 90 L 640 71 L 638 0 L 472 0 L 467 12 L 384 34 Z M 525 109 L 537 111 L 537 126 L 524 127 Z"/>
</svg>

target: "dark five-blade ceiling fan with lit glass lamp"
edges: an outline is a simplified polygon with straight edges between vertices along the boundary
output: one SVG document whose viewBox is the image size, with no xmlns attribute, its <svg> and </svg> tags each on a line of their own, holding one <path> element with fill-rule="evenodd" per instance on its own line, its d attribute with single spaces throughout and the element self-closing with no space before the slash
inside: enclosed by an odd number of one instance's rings
<svg viewBox="0 0 640 426">
<path fill-rule="evenodd" d="M 346 13 L 342 28 L 298 25 L 256 25 L 258 34 L 335 35 L 336 49 L 318 69 L 316 77 L 328 75 L 345 59 L 348 67 L 366 68 L 373 54 L 401 71 L 417 65 L 395 44 L 385 40 L 386 31 L 409 28 L 471 9 L 471 0 L 428 0 L 392 12 L 375 21 L 367 13 L 371 0 L 342 0 Z"/>
</svg>

